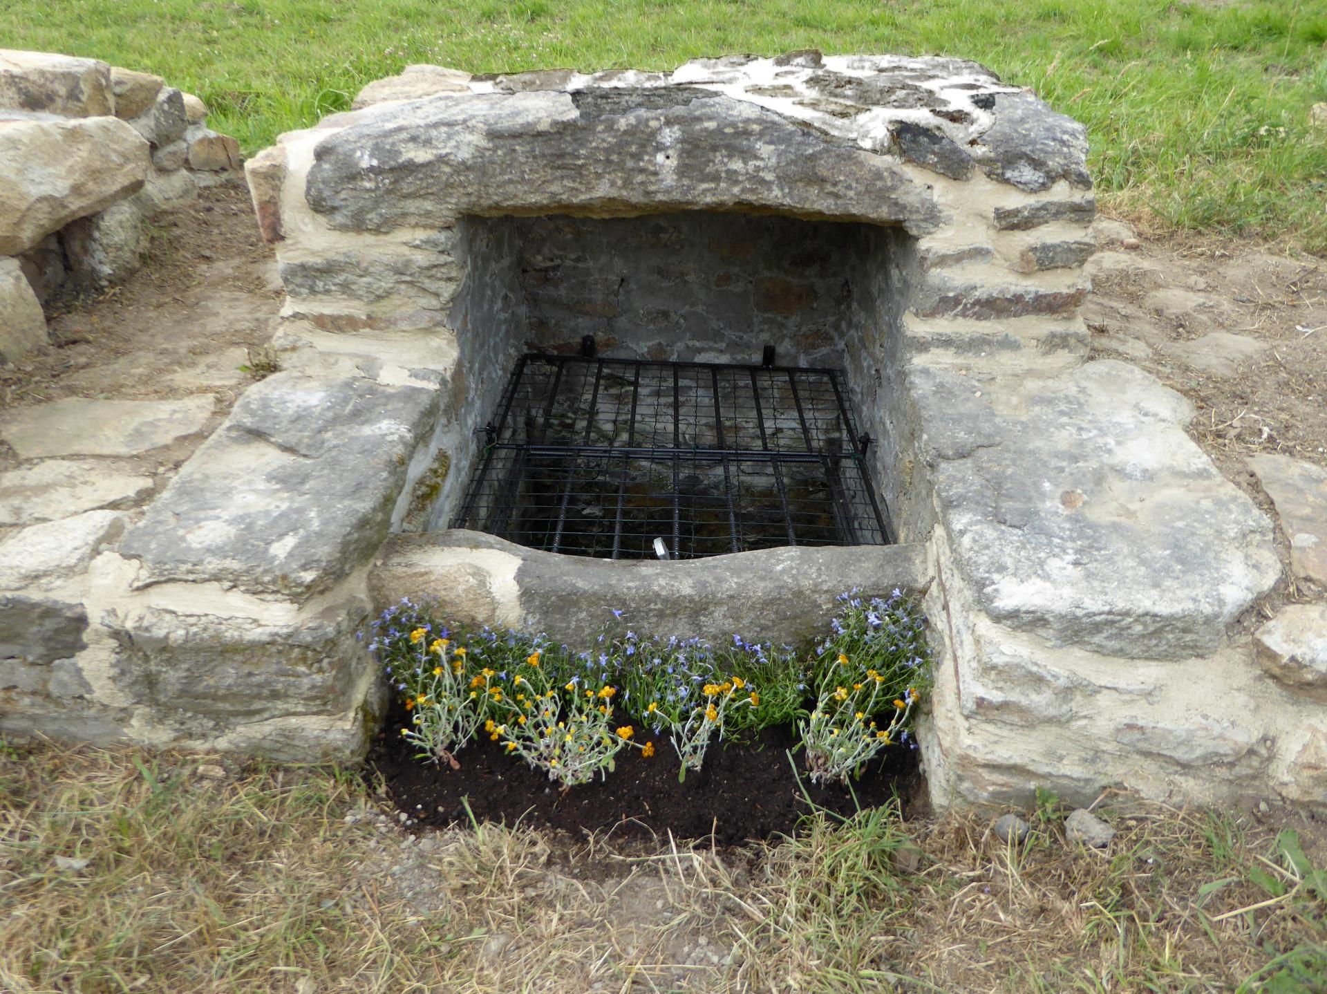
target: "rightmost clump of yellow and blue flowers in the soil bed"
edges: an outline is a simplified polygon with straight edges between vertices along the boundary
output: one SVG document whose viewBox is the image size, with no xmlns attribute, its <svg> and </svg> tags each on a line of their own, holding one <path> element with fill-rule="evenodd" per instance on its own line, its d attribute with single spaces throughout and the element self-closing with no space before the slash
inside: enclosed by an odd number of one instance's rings
<svg viewBox="0 0 1327 994">
<path fill-rule="evenodd" d="M 799 725 L 812 782 L 847 780 L 894 743 L 910 742 L 926 689 L 925 618 L 894 591 L 889 600 L 843 595 L 832 633 L 816 649 L 816 703 Z"/>
</svg>

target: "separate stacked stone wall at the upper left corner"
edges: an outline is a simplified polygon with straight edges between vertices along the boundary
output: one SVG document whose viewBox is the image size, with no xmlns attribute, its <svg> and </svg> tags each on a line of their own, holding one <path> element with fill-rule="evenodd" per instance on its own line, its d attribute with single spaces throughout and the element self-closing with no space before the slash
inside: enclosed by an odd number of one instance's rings
<svg viewBox="0 0 1327 994">
<path fill-rule="evenodd" d="M 46 342 L 58 293 L 138 268 L 145 219 L 239 166 L 203 102 L 161 77 L 0 49 L 0 362 Z"/>
</svg>

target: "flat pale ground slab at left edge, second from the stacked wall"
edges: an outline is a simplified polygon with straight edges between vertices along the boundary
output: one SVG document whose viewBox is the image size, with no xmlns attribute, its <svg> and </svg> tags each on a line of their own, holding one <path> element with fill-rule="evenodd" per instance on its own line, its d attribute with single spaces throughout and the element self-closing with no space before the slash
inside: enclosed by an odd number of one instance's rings
<svg viewBox="0 0 1327 994">
<path fill-rule="evenodd" d="M 35 524 L 135 500 L 151 476 L 94 459 L 48 459 L 0 472 L 0 524 Z"/>
</svg>

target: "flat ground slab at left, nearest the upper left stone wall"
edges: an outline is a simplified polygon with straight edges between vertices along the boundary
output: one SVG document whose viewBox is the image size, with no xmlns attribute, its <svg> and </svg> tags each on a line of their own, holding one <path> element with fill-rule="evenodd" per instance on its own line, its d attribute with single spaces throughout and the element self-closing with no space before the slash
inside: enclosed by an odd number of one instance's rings
<svg viewBox="0 0 1327 994">
<path fill-rule="evenodd" d="M 72 397 L 20 407 L 0 421 L 21 459 L 60 455 L 138 455 L 202 431 L 211 394 L 178 401 L 92 401 Z"/>
</svg>

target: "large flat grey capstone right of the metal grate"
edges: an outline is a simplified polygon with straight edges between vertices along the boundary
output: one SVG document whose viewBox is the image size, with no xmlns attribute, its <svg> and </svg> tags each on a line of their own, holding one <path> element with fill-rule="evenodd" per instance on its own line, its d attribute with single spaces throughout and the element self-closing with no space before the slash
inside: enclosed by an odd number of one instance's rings
<svg viewBox="0 0 1327 994">
<path fill-rule="evenodd" d="M 914 368 L 908 386 L 958 567 L 997 621 L 1185 658 L 1277 581 L 1271 523 L 1184 433 L 1188 402 L 1136 366 L 993 384 Z"/>
</svg>

